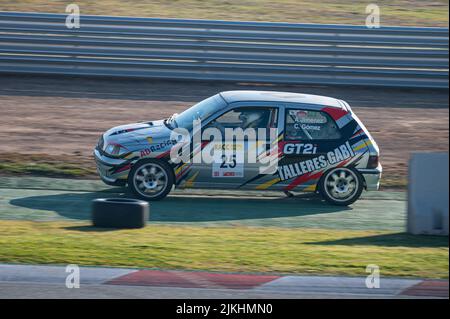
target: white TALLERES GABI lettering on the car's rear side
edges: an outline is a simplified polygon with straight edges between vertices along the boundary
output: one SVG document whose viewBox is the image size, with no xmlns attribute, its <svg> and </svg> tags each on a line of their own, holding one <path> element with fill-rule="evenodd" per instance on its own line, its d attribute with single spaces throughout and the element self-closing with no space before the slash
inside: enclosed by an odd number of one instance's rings
<svg viewBox="0 0 450 319">
<path fill-rule="evenodd" d="M 297 176 L 311 173 L 325 167 L 335 165 L 347 158 L 355 156 L 352 147 L 348 142 L 336 147 L 327 154 L 314 157 L 302 162 L 282 165 L 278 167 L 280 180 L 288 180 Z"/>
</svg>

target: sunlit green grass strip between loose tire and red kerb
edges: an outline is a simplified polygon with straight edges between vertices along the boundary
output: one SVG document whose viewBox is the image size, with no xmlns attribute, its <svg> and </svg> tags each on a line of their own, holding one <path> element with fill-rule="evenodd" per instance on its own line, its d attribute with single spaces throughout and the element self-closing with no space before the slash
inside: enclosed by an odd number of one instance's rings
<svg viewBox="0 0 450 319">
<path fill-rule="evenodd" d="M 380 231 L 0 222 L 0 262 L 448 278 L 448 237 Z"/>
</svg>

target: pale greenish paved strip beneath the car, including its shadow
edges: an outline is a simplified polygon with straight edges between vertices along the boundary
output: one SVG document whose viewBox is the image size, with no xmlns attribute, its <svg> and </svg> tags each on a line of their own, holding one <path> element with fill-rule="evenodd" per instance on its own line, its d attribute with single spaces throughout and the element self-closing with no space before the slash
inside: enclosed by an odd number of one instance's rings
<svg viewBox="0 0 450 319">
<path fill-rule="evenodd" d="M 125 189 L 99 181 L 2 177 L 0 219 L 86 221 L 93 199 L 127 196 Z M 281 192 L 176 191 L 151 203 L 150 222 L 404 231 L 406 195 L 367 192 L 352 206 L 338 207 L 313 194 L 288 198 Z"/>
</svg>

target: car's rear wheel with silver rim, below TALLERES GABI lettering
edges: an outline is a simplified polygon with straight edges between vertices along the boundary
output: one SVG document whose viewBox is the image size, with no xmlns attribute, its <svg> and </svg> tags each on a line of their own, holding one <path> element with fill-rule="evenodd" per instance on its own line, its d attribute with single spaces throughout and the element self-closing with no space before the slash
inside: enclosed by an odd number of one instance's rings
<svg viewBox="0 0 450 319">
<path fill-rule="evenodd" d="M 325 173 L 319 182 L 319 191 L 333 205 L 353 204 L 363 191 L 361 175 L 354 169 L 337 167 Z"/>
</svg>

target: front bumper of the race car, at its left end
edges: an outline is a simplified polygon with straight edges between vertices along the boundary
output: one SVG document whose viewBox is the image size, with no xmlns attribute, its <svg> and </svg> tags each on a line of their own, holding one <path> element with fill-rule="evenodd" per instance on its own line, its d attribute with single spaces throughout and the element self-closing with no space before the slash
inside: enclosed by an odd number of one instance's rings
<svg viewBox="0 0 450 319">
<path fill-rule="evenodd" d="M 127 179 L 131 164 L 126 159 L 110 158 L 94 149 L 95 163 L 100 178 L 107 183 L 114 183 L 119 179 Z"/>
</svg>

